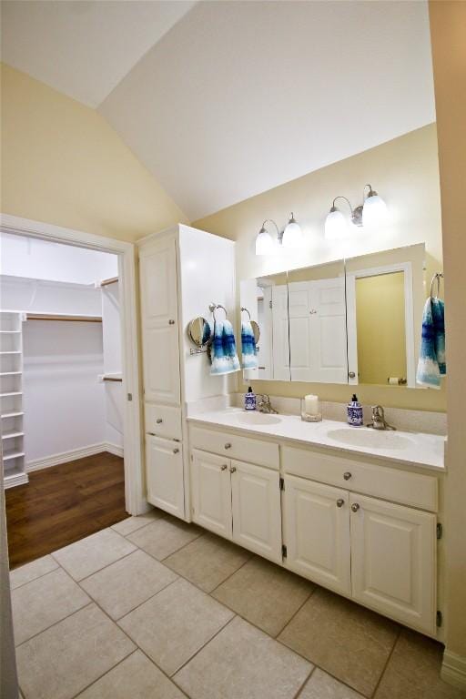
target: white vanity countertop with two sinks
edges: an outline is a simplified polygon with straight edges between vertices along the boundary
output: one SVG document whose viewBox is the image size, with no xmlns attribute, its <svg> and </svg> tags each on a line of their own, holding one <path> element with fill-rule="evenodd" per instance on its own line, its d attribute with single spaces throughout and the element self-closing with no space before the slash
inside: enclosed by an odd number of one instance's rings
<svg viewBox="0 0 466 699">
<path fill-rule="evenodd" d="M 444 470 L 445 437 L 437 434 L 405 431 L 376 431 L 349 427 L 344 422 L 322 420 L 304 422 L 299 415 L 273 415 L 273 423 L 261 424 L 262 413 L 247 413 L 240 408 L 212 410 L 189 415 L 187 420 L 203 425 L 230 428 L 256 436 L 275 437 L 279 441 L 314 444 L 336 451 L 373 456 L 399 464 Z M 257 421 L 255 421 L 257 420 Z"/>
</svg>

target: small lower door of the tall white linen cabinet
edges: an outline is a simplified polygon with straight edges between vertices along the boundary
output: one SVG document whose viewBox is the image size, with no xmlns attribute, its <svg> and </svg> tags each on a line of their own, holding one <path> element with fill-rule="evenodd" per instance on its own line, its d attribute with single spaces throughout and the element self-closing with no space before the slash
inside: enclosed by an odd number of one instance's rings
<svg viewBox="0 0 466 699">
<path fill-rule="evenodd" d="M 146 438 L 147 500 L 176 517 L 185 517 L 183 455 L 177 441 Z"/>
</svg>

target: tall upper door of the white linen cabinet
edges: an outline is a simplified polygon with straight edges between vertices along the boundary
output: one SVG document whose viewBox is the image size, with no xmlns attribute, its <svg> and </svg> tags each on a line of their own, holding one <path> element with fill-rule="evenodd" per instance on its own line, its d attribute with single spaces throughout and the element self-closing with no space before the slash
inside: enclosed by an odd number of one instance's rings
<svg viewBox="0 0 466 699">
<path fill-rule="evenodd" d="M 145 398 L 179 405 L 175 246 L 168 239 L 141 250 L 140 285 Z"/>
</svg>

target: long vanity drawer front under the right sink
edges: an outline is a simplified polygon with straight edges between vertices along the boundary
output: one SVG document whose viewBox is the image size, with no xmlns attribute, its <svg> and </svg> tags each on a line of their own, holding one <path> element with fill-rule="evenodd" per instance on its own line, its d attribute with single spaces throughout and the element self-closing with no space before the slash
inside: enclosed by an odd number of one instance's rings
<svg viewBox="0 0 466 699">
<path fill-rule="evenodd" d="M 294 447 L 283 447 L 282 458 L 285 472 L 295 476 L 437 512 L 437 479 L 433 476 Z"/>
</svg>

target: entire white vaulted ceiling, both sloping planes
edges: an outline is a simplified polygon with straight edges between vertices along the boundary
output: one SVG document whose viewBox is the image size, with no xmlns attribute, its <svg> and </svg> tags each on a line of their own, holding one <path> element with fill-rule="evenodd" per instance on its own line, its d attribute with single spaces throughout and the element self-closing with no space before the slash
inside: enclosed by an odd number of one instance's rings
<svg viewBox="0 0 466 699">
<path fill-rule="evenodd" d="M 423 1 L 2 8 L 5 62 L 98 108 L 191 220 L 435 120 Z"/>
</svg>

